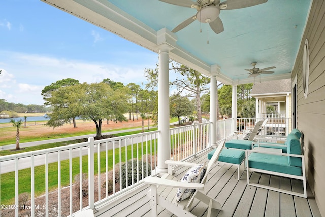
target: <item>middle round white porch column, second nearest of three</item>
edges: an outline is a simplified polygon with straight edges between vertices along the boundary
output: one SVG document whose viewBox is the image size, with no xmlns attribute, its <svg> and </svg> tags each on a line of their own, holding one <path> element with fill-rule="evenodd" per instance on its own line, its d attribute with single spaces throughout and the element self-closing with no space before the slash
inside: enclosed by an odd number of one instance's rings
<svg viewBox="0 0 325 217">
<path fill-rule="evenodd" d="M 216 146 L 217 144 L 217 76 L 211 75 L 210 80 L 210 144 Z"/>
</svg>

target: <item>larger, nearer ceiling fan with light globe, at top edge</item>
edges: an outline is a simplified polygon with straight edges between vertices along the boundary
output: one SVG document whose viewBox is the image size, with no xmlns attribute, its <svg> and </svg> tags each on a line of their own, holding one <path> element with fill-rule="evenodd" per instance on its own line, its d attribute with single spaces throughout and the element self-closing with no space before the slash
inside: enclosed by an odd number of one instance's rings
<svg viewBox="0 0 325 217">
<path fill-rule="evenodd" d="M 226 0 L 220 3 L 220 0 L 197 0 L 193 2 L 191 0 L 160 0 L 173 5 L 195 8 L 197 14 L 191 16 L 178 26 L 176 26 L 172 32 L 178 32 L 191 24 L 194 20 L 199 20 L 201 23 L 209 23 L 211 29 L 219 34 L 223 32 L 223 24 L 219 17 L 220 10 L 232 10 L 239 8 L 251 7 L 266 3 L 268 0 Z"/>
</svg>

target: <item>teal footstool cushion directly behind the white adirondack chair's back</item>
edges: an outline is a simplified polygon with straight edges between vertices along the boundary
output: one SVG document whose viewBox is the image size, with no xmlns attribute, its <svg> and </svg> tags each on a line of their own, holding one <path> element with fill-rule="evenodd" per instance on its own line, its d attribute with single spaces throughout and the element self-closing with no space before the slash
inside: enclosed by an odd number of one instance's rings
<svg viewBox="0 0 325 217">
<path fill-rule="evenodd" d="M 212 158 L 215 149 L 208 153 L 208 159 Z M 245 158 L 245 151 L 236 149 L 222 149 L 218 161 L 232 164 L 241 164 Z"/>
</svg>

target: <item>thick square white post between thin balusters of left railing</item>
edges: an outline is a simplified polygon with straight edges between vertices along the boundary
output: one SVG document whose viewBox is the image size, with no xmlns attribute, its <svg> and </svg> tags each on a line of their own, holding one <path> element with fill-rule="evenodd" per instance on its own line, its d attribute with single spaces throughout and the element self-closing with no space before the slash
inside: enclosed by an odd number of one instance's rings
<svg viewBox="0 0 325 217">
<path fill-rule="evenodd" d="M 89 207 L 94 210 L 95 208 L 95 164 L 94 164 L 94 138 L 89 137 L 89 148 L 88 148 L 88 198 L 89 198 Z M 82 174 L 80 174 L 82 175 Z"/>
</svg>

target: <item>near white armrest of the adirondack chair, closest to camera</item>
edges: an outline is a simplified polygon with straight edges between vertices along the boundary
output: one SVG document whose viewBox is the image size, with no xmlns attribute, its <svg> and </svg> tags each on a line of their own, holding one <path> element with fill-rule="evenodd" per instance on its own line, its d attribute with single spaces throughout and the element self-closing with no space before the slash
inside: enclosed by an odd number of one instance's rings
<svg viewBox="0 0 325 217">
<path fill-rule="evenodd" d="M 149 185 L 156 185 L 156 186 L 204 190 L 204 184 L 202 183 L 179 182 L 179 181 L 157 178 L 152 176 L 146 177 L 145 179 L 143 179 L 143 182 Z"/>
</svg>

